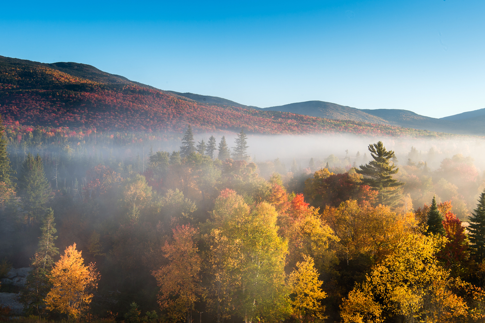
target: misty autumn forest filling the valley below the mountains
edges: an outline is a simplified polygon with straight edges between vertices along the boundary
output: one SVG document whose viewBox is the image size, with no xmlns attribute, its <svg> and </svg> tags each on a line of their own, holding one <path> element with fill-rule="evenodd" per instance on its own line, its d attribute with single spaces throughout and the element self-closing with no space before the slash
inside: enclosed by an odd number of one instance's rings
<svg viewBox="0 0 485 323">
<path fill-rule="evenodd" d="M 0 276 L 31 269 L 2 279 L 23 310 L 1 320 L 485 319 L 471 157 L 377 141 L 287 167 L 251 158 L 243 130 L 206 142 L 187 125 L 164 151 L 156 133 L 0 121 Z"/>
</svg>

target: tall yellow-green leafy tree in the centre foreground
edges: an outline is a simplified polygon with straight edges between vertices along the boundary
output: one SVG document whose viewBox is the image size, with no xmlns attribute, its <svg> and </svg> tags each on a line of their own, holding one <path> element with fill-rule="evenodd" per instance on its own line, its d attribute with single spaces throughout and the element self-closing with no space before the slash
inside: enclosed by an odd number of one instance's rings
<svg viewBox="0 0 485 323">
<path fill-rule="evenodd" d="M 217 241 L 224 245 L 213 250 L 229 254 L 221 258 L 222 267 L 213 267 L 227 275 L 213 274 L 224 279 L 211 284 L 224 284 L 223 290 L 230 291 L 221 295 L 224 302 L 230 302 L 246 323 L 257 317 L 277 321 L 290 313 L 284 273 L 287 243 L 277 235 L 276 218 L 272 205 L 263 202 L 251 210 L 232 190 L 224 190 L 216 199 L 211 231 L 215 237 L 217 230 Z"/>
</svg>

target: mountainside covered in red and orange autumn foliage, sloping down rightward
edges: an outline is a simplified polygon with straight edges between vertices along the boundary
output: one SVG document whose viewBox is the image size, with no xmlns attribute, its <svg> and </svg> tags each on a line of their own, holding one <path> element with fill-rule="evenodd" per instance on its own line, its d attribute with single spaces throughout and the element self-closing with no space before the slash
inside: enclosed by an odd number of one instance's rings
<svg viewBox="0 0 485 323">
<path fill-rule="evenodd" d="M 182 133 L 191 124 L 197 132 L 243 128 L 263 134 L 437 136 L 383 124 L 261 111 L 205 98 L 206 103 L 204 96 L 155 89 L 90 65 L 42 64 L 0 56 L 0 113 L 7 124 L 148 133 Z"/>
</svg>

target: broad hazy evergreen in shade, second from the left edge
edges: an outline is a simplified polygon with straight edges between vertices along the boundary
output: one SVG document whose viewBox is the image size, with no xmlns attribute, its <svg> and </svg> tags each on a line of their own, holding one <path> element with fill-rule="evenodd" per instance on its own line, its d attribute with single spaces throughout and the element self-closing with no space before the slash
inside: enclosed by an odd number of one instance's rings
<svg viewBox="0 0 485 323">
<path fill-rule="evenodd" d="M 32 220 L 44 213 L 44 206 L 49 200 L 50 192 L 42 159 L 38 154 L 34 158 L 29 153 L 22 164 L 22 178 L 20 179 L 20 196 L 22 206 L 28 216 L 29 226 Z"/>
</svg>

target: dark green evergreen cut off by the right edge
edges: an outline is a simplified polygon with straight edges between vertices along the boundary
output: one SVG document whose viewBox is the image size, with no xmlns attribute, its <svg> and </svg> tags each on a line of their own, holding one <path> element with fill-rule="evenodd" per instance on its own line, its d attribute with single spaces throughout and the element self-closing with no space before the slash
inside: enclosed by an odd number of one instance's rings
<svg viewBox="0 0 485 323">
<path fill-rule="evenodd" d="M 477 208 L 469 218 L 469 238 L 472 255 L 477 262 L 485 259 L 485 190 L 480 194 Z"/>
</svg>

